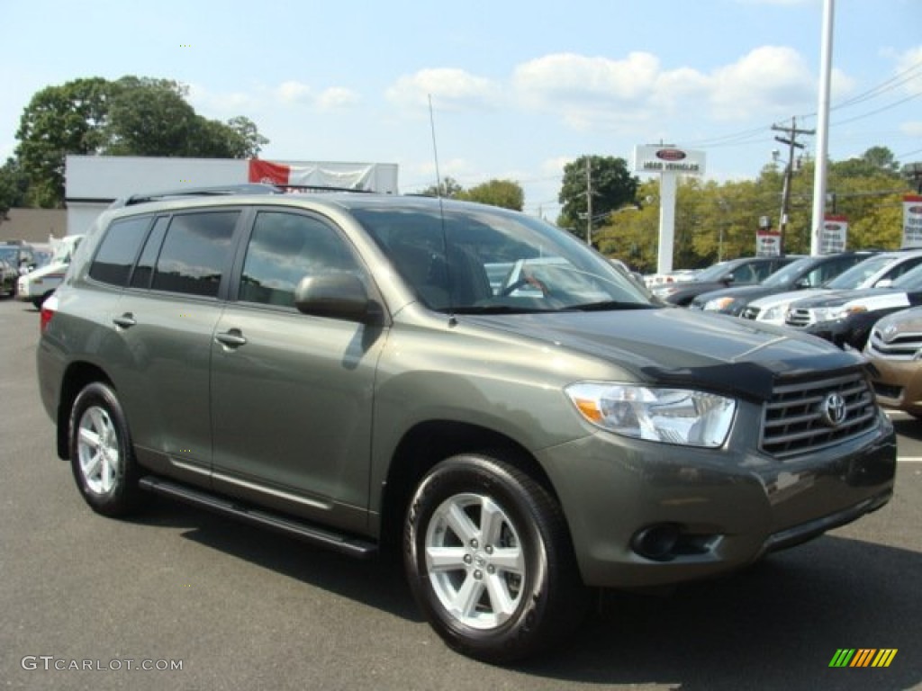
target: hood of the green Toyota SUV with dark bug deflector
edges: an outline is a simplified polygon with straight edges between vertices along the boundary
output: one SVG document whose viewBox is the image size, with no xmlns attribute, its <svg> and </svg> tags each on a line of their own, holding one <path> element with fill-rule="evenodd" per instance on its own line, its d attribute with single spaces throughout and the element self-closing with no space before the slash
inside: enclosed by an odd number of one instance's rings
<svg viewBox="0 0 922 691">
<path fill-rule="evenodd" d="M 854 368 L 861 357 L 780 327 L 680 308 L 459 316 L 605 359 L 638 381 L 767 400 L 774 381 L 816 369 Z"/>
</svg>

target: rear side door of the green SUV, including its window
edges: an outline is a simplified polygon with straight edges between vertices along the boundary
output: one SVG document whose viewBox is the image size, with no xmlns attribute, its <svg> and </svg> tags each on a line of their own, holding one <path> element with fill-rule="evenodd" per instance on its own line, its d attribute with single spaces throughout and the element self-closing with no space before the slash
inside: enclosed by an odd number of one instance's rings
<svg viewBox="0 0 922 691">
<path fill-rule="evenodd" d="M 156 218 L 113 320 L 142 462 L 200 485 L 211 466 L 211 339 L 240 215 L 224 208 Z"/>
</svg>

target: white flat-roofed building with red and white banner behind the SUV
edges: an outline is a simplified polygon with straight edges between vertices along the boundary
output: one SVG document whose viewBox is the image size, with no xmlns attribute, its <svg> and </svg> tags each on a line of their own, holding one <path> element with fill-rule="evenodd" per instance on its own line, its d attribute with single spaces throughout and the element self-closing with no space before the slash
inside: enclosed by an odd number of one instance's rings
<svg viewBox="0 0 922 691">
<path fill-rule="evenodd" d="M 259 158 L 65 158 L 67 234 L 85 233 L 116 199 L 137 193 L 274 182 L 397 193 L 396 163 L 266 161 Z"/>
</svg>

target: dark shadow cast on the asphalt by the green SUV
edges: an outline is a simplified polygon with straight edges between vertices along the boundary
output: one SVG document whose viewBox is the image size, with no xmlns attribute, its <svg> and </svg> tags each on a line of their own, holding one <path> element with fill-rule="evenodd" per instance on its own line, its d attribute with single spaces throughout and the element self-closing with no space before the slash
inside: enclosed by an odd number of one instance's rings
<svg viewBox="0 0 922 691">
<path fill-rule="evenodd" d="M 189 528 L 183 536 L 199 544 L 421 621 L 396 558 L 352 560 L 165 501 L 140 522 Z M 516 670 L 683 691 L 914 688 L 922 683 L 920 575 L 916 552 L 827 535 L 669 594 L 607 591 L 565 649 Z M 842 648 L 898 652 L 888 668 L 830 668 Z"/>
</svg>

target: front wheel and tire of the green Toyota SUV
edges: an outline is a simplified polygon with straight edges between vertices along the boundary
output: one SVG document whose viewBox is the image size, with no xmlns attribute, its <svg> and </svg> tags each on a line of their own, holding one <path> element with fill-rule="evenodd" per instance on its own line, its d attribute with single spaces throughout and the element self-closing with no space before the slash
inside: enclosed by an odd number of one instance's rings
<svg viewBox="0 0 922 691">
<path fill-rule="evenodd" d="M 417 488 L 404 534 L 408 580 L 445 642 L 485 662 L 514 662 L 585 619 L 560 505 L 511 463 L 459 455 Z"/>
</svg>

